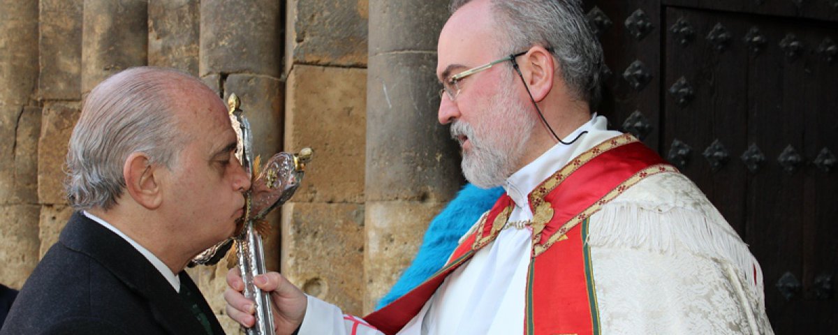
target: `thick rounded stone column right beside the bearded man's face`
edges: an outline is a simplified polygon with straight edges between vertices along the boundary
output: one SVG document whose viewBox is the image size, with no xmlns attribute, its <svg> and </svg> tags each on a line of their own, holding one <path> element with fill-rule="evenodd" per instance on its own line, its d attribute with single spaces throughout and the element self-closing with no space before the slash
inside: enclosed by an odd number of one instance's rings
<svg viewBox="0 0 838 335">
<path fill-rule="evenodd" d="M 434 69 L 447 1 L 370 1 L 364 310 L 396 282 L 432 217 L 463 183 L 437 123 Z"/>
</svg>

